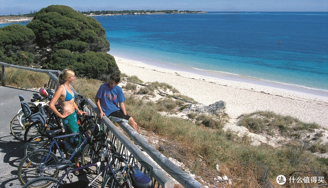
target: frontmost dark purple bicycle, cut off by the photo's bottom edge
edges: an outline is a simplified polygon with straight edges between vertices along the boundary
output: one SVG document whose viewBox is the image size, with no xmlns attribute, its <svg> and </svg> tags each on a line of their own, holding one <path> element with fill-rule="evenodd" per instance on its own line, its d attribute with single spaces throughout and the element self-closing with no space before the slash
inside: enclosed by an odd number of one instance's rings
<svg viewBox="0 0 328 188">
<path fill-rule="evenodd" d="M 124 163 L 125 165 L 122 167 L 118 167 L 116 169 L 113 169 L 113 161 L 109 162 L 109 156 L 110 153 L 109 151 L 111 151 L 112 156 L 117 158 L 120 162 Z M 147 182 L 144 183 L 145 185 L 143 185 L 142 187 L 147 188 L 147 187 L 151 187 L 152 186 L 152 178 L 147 176 L 146 174 L 142 173 L 139 170 L 139 167 L 133 165 L 133 164 L 129 164 L 128 160 L 118 154 L 117 152 L 113 153 L 113 148 L 109 148 L 107 147 L 107 149 L 103 152 L 104 156 L 105 156 L 105 160 L 102 160 L 100 162 L 96 162 L 96 163 L 92 163 L 92 164 L 88 164 L 86 166 L 82 166 L 79 168 L 75 168 L 72 169 L 72 167 L 75 165 L 74 163 L 62 163 L 62 162 L 56 162 L 56 168 L 58 170 L 64 170 L 65 172 L 63 173 L 63 175 L 60 178 L 51 178 L 51 177 L 40 177 L 40 178 L 35 178 L 33 180 L 31 180 L 29 183 L 27 183 L 25 186 L 23 186 L 23 188 L 45 188 L 45 187 L 53 187 L 53 188 L 57 188 L 59 186 L 61 187 L 86 187 L 89 188 L 92 184 L 94 184 L 94 182 L 96 181 L 96 179 L 98 179 L 100 176 L 103 177 L 107 177 L 107 178 L 103 178 L 103 183 L 102 183 L 102 188 L 104 187 L 109 187 L 109 188 L 130 188 L 132 186 L 134 186 L 134 188 L 138 188 L 140 187 L 140 185 L 138 186 L 137 183 L 141 182 L 141 179 L 143 182 Z M 101 166 L 104 165 L 105 163 L 107 163 L 104 168 L 95 176 L 95 178 L 93 178 L 91 180 L 91 182 L 87 182 L 87 181 L 76 181 L 76 182 L 72 182 L 72 178 L 69 175 L 69 173 L 72 173 L 76 170 L 81 170 L 84 168 L 88 168 L 91 166 Z M 148 174 L 152 175 L 152 168 L 148 168 Z M 109 175 L 106 176 L 107 172 L 109 172 Z M 65 184 L 66 182 L 64 181 L 64 178 L 67 177 L 69 179 L 70 183 Z M 147 186 L 148 185 L 148 186 Z"/>
</svg>

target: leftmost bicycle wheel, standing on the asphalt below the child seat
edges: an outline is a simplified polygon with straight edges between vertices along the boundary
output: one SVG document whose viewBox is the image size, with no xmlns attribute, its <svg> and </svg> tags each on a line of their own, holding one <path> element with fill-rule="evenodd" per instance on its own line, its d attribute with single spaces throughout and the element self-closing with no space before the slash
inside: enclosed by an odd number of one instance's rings
<svg viewBox="0 0 328 188">
<path fill-rule="evenodd" d="M 25 120 L 25 125 L 21 125 L 21 121 L 17 117 L 22 116 L 21 119 L 25 118 L 24 113 L 19 113 L 15 115 L 15 117 L 11 120 L 10 123 L 10 131 L 11 134 L 18 140 L 24 141 L 24 133 L 25 133 L 25 126 L 29 124 L 28 121 Z"/>
</svg>

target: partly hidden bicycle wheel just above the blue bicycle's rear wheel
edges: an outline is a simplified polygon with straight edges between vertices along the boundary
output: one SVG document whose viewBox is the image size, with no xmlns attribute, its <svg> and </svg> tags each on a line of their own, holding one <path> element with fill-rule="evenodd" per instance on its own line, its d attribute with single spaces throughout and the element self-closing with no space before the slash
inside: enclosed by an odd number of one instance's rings
<svg viewBox="0 0 328 188">
<path fill-rule="evenodd" d="M 22 148 L 24 149 L 24 156 L 34 150 L 49 149 L 51 141 L 52 140 L 49 139 L 47 136 L 36 135 L 31 137 L 28 142 L 22 146 Z M 55 153 L 53 150 L 52 152 Z"/>
</svg>

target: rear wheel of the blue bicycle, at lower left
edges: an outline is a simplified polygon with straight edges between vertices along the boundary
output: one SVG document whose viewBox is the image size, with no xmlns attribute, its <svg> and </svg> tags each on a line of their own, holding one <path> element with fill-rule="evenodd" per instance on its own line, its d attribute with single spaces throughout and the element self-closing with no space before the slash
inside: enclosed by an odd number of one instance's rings
<svg viewBox="0 0 328 188">
<path fill-rule="evenodd" d="M 56 178 L 58 169 L 56 162 L 58 158 L 49 150 L 35 150 L 26 155 L 18 165 L 18 179 L 25 185 L 28 181 L 41 176 Z"/>
</svg>

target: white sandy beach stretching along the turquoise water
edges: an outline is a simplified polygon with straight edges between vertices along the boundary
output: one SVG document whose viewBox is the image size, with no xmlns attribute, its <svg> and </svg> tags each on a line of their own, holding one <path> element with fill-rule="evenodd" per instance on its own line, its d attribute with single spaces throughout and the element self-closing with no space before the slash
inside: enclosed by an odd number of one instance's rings
<svg viewBox="0 0 328 188">
<path fill-rule="evenodd" d="M 326 92 L 248 78 L 229 80 L 225 79 L 225 75 L 203 76 L 211 73 L 203 71 L 200 75 L 181 69 L 171 70 L 172 67 L 160 68 L 117 56 L 115 60 L 122 73 L 136 75 L 144 82 L 168 83 L 181 94 L 205 105 L 225 101 L 226 113 L 231 117 L 232 123 L 241 114 L 268 110 L 281 115 L 291 115 L 308 123 L 317 122 L 328 128 Z"/>
</svg>

